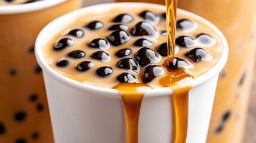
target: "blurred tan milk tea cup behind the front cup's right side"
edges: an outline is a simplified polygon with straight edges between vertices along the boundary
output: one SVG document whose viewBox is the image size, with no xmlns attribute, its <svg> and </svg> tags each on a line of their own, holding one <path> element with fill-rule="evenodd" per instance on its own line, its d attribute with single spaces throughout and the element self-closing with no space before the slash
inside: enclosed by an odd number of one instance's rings
<svg viewBox="0 0 256 143">
<path fill-rule="evenodd" d="M 116 0 L 152 2 L 165 0 Z M 256 48 L 256 1 L 252 0 L 178 0 L 178 7 L 209 20 L 227 38 L 229 60 L 220 73 L 207 142 L 243 142 L 251 93 Z M 255 82 L 256 83 L 256 82 Z M 252 102 L 254 103 L 254 102 Z M 252 106 L 255 108 L 255 104 Z M 252 114 L 256 111 L 252 109 Z M 246 142 L 256 142 L 255 119 Z M 251 135 L 251 136 L 250 136 Z"/>
</svg>

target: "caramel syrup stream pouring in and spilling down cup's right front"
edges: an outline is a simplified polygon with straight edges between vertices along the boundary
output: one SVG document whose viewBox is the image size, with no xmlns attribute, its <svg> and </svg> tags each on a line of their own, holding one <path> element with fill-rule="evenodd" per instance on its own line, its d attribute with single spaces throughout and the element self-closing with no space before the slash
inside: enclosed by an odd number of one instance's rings
<svg viewBox="0 0 256 143">
<path fill-rule="evenodd" d="M 176 15 L 177 15 L 177 0 L 166 0 L 166 25 L 167 25 L 167 63 L 174 63 L 175 59 L 175 34 L 176 34 Z M 185 143 L 187 138 L 187 123 L 189 113 L 189 91 L 192 88 L 193 77 L 183 67 L 178 69 L 171 69 L 166 66 L 169 71 L 165 79 L 169 81 L 162 82 L 168 83 L 169 88 L 174 91 L 171 95 L 172 103 L 172 116 L 173 116 L 173 130 L 172 130 L 172 143 Z M 169 77 L 168 77 L 169 76 Z M 185 82 L 182 82 L 185 80 Z"/>
</svg>

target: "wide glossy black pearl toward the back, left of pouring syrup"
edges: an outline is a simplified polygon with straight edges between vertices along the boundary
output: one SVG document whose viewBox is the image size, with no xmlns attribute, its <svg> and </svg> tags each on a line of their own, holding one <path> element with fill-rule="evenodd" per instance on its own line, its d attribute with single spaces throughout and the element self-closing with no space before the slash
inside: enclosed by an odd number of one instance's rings
<svg viewBox="0 0 256 143">
<path fill-rule="evenodd" d="M 147 22 L 137 23 L 131 30 L 131 34 L 134 36 L 150 36 L 155 37 L 158 35 L 155 27 L 152 24 Z"/>
</svg>

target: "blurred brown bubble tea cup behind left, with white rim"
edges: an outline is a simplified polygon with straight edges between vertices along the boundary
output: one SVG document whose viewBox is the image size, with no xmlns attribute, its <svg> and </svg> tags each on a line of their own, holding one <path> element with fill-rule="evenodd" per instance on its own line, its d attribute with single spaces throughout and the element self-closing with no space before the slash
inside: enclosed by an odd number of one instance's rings
<svg viewBox="0 0 256 143">
<path fill-rule="evenodd" d="M 53 142 L 35 39 L 54 18 L 79 0 L 0 1 L 0 142 Z"/>
</svg>

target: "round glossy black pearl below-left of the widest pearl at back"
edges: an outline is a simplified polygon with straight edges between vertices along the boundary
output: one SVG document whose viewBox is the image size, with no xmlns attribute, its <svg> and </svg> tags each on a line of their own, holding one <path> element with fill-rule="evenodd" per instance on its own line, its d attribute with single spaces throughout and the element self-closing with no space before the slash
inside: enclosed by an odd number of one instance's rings
<svg viewBox="0 0 256 143">
<path fill-rule="evenodd" d="M 116 30 L 111 33 L 111 35 L 107 38 L 112 45 L 119 46 L 127 41 L 129 41 L 130 37 L 127 32 L 123 30 Z"/>
</svg>

